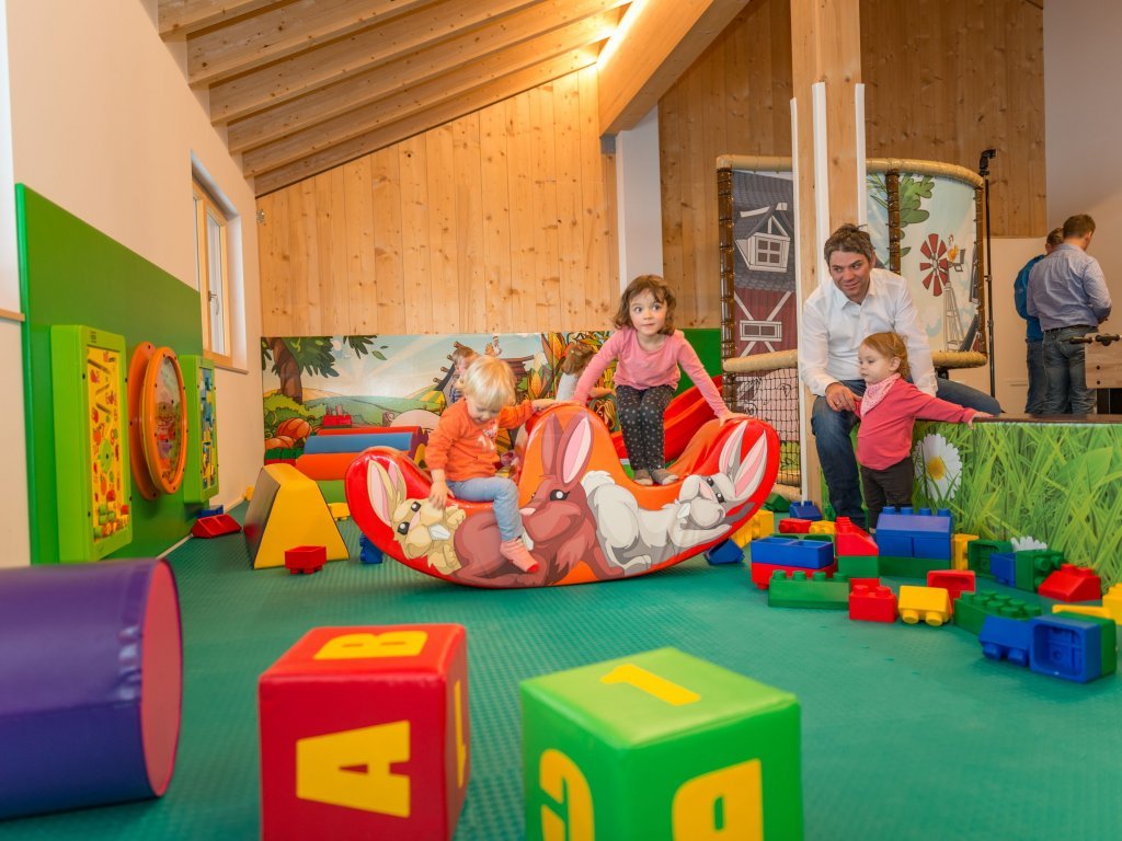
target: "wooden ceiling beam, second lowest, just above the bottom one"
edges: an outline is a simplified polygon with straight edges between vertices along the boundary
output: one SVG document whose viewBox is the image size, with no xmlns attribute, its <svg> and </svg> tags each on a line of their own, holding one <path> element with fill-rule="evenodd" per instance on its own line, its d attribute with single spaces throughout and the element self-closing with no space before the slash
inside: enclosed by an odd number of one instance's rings
<svg viewBox="0 0 1122 841">
<path fill-rule="evenodd" d="M 574 7 L 579 6 L 580 2 L 574 3 Z M 468 33 L 346 82 L 313 91 L 246 120 L 232 122 L 227 130 L 227 142 L 231 151 L 239 153 L 279 140 L 294 130 L 305 132 L 305 137 L 309 136 L 307 132 L 320 132 L 322 127 L 316 123 L 340 114 L 346 114 L 347 123 L 351 124 L 356 120 L 356 109 L 390 96 L 406 86 L 412 99 L 420 99 L 424 83 L 445 74 L 451 76 L 458 67 L 470 67 L 470 74 L 465 77 L 468 83 L 478 82 L 487 74 L 496 77 L 507 75 L 545 58 L 607 40 L 619 24 L 619 15 L 618 8 L 611 9 L 578 19 L 568 26 L 546 29 L 544 34 L 528 39 L 527 31 L 519 27 L 491 27 L 479 34 Z M 514 22 L 513 17 L 511 22 Z M 500 39 L 499 36 L 504 34 L 509 41 Z M 443 91 L 456 84 L 456 77 L 445 77 L 441 80 L 439 87 Z"/>
</svg>

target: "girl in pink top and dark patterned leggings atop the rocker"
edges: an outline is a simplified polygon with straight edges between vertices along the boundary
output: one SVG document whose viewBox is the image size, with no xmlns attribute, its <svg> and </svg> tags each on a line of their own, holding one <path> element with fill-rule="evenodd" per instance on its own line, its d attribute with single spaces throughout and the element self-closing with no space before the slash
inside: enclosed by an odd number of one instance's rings
<svg viewBox="0 0 1122 841">
<path fill-rule="evenodd" d="M 604 343 L 577 382 L 573 400 L 581 406 L 604 370 L 616 366 L 616 410 L 627 459 L 638 484 L 670 484 L 678 477 L 665 470 L 664 420 L 678 388 L 681 366 L 706 403 L 724 423 L 744 415 L 729 412 L 680 330 L 674 330 L 674 293 L 657 275 L 640 275 L 619 298 L 613 323 L 617 330 Z"/>
</svg>

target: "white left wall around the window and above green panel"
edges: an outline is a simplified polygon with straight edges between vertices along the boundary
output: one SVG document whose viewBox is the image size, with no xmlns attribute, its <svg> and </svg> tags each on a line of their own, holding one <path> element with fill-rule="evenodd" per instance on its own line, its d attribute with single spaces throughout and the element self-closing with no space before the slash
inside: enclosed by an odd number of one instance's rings
<svg viewBox="0 0 1122 841">
<path fill-rule="evenodd" d="M 15 182 L 27 184 L 192 287 L 192 154 L 240 214 L 243 324 L 237 331 L 242 341 L 234 361 L 248 372 L 221 371 L 218 378 L 222 488 L 218 501 L 233 501 L 257 475 L 264 437 L 252 190 L 187 87 L 182 61 L 160 40 L 153 24 L 155 0 L 0 0 L 0 8 L 8 27 Z M 3 183 L 2 141 L 0 191 L 4 191 L 2 222 L 12 201 L 10 183 Z M 11 288 L 18 289 L 11 259 L 0 247 L 0 301 L 9 299 Z M 0 341 L 4 359 L 11 359 L 4 325 L 0 325 Z M 3 377 L 0 388 L 11 396 L 8 414 L 21 418 L 21 387 L 11 390 L 10 371 Z M 0 537 L 21 528 L 24 542 L 19 552 L 0 556 L 0 565 L 28 562 L 27 484 L 22 475 L 16 475 L 19 472 L 3 471 L 0 497 L 22 500 L 22 523 L 18 523 L 18 503 L 6 506 Z"/>
</svg>

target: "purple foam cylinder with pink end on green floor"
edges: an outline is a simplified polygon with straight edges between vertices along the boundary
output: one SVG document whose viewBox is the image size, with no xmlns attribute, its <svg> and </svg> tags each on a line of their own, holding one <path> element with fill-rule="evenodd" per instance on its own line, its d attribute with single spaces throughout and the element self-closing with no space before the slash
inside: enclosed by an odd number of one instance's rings
<svg viewBox="0 0 1122 841">
<path fill-rule="evenodd" d="M 163 794 L 182 695 L 167 563 L 0 570 L 0 817 Z"/>
</svg>

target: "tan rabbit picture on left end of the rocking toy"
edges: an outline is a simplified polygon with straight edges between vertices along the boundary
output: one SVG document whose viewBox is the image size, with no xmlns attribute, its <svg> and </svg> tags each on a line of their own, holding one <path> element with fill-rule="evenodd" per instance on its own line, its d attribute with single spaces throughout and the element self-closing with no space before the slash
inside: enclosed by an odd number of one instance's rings
<svg viewBox="0 0 1122 841">
<path fill-rule="evenodd" d="M 405 477 L 389 462 L 389 472 L 376 461 L 367 473 L 370 505 L 378 518 L 394 532 L 405 557 L 424 555 L 429 565 L 449 575 L 460 569 L 452 536 L 463 521 L 465 512 L 457 506 L 434 508 L 427 499 L 408 499 Z"/>
</svg>

